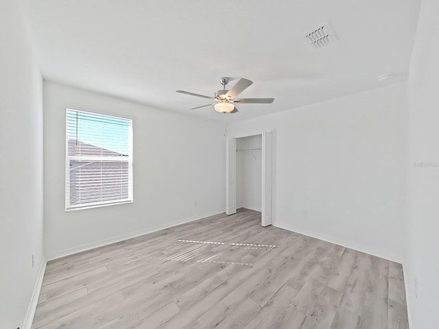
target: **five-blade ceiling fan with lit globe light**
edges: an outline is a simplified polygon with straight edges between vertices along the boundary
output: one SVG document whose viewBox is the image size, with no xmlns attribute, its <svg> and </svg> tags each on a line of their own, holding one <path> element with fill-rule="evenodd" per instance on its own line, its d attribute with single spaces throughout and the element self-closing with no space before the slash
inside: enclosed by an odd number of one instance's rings
<svg viewBox="0 0 439 329">
<path fill-rule="evenodd" d="M 268 104 L 274 101 L 274 98 L 235 98 L 237 95 L 242 93 L 246 88 L 248 88 L 253 82 L 250 80 L 244 79 L 241 77 L 239 81 L 233 86 L 230 90 L 226 89 L 226 85 L 230 82 L 229 77 L 221 77 L 219 79 L 219 83 L 222 84 L 223 89 L 217 90 L 215 93 L 215 97 L 189 93 L 189 91 L 184 90 L 176 90 L 177 93 L 187 94 L 196 97 L 202 97 L 206 99 L 211 99 L 213 103 L 197 106 L 196 108 L 204 108 L 206 106 L 213 106 L 215 111 L 220 113 L 236 113 L 238 109 L 235 106 L 235 103 L 259 103 L 259 104 Z M 195 110 L 195 108 L 191 108 L 191 110 Z"/>
</svg>

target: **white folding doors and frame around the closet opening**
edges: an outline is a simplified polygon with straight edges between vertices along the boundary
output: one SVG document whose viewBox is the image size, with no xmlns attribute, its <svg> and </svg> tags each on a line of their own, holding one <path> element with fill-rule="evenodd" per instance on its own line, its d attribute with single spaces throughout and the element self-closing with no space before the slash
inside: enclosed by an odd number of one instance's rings
<svg viewBox="0 0 439 329">
<path fill-rule="evenodd" d="M 262 195 L 261 226 L 272 225 L 273 212 L 273 134 L 260 132 L 257 134 L 228 136 L 226 138 L 226 215 L 236 213 L 236 140 L 237 138 L 262 136 Z"/>
</svg>

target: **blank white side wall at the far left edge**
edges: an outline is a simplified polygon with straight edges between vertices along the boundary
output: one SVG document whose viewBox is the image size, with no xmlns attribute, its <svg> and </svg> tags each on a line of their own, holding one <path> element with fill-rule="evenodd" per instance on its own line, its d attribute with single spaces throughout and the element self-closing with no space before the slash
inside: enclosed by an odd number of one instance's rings
<svg viewBox="0 0 439 329">
<path fill-rule="evenodd" d="M 5 329 L 23 328 L 45 264 L 43 82 L 18 3 L 2 1 L 0 10 L 0 328 Z M 31 313 L 32 307 L 28 319 Z"/>
</svg>

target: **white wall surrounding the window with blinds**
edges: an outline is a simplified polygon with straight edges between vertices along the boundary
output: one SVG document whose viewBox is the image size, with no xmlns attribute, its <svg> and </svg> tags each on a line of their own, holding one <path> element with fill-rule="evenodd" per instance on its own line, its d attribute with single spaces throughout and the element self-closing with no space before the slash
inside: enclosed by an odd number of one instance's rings
<svg viewBox="0 0 439 329">
<path fill-rule="evenodd" d="M 44 84 L 44 99 L 47 258 L 224 212 L 221 123 L 51 82 Z M 132 204 L 65 212 L 66 108 L 133 119 Z"/>
</svg>

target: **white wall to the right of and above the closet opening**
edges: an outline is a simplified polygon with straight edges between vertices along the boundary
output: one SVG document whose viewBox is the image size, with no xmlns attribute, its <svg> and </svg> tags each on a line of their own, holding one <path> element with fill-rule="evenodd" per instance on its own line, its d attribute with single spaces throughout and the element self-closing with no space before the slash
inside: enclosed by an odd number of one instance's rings
<svg viewBox="0 0 439 329">
<path fill-rule="evenodd" d="M 400 83 L 230 123 L 228 134 L 274 132 L 274 226 L 401 262 L 406 112 Z"/>
</svg>

